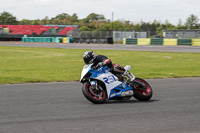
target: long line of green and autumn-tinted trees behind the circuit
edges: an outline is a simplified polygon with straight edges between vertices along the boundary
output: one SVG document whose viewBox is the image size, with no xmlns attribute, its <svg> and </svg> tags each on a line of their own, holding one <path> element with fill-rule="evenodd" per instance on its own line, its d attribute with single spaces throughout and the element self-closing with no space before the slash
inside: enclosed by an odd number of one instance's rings
<svg viewBox="0 0 200 133">
<path fill-rule="evenodd" d="M 69 15 L 67 13 L 58 14 L 55 17 L 37 20 L 17 20 L 9 12 L 2 12 L 0 14 L 0 24 L 3 25 L 79 25 L 80 31 L 149 31 L 151 35 L 162 36 L 163 30 L 185 30 L 185 29 L 200 29 L 199 18 L 191 14 L 186 22 L 183 23 L 181 19 L 177 25 L 171 24 L 168 20 L 164 23 L 154 20 L 153 22 L 134 23 L 126 20 L 116 20 L 112 22 L 110 19 L 106 19 L 104 15 L 91 13 L 86 18 L 79 19 L 77 14 Z"/>
</svg>

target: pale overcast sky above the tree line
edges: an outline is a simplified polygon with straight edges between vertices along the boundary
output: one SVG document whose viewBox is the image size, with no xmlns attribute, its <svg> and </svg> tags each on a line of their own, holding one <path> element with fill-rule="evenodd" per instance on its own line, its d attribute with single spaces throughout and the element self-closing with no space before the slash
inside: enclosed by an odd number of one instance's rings
<svg viewBox="0 0 200 133">
<path fill-rule="evenodd" d="M 43 19 L 61 13 L 76 13 L 79 19 L 90 13 L 102 14 L 106 19 L 128 20 L 134 23 L 168 20 L 183 23 L 191 14 L 200 18 L 200 0 L 0 0 L 0 13 L 7 11 L 22 19 Z"/>
</svg>

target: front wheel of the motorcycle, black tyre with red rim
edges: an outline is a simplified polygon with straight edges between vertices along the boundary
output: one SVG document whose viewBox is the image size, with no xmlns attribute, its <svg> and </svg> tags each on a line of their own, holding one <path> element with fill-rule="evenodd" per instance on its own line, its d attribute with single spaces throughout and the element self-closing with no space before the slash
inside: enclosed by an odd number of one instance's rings
<svg viewBox="0 0 200 133">
<path fill-rule="evenodd" d="M 102 104 L 106 101 L 105 90 L 95 90 L 91 88 L 89 82 L 85 82 L 82 87 L 83 95 L 92 103 Z"/>
</svg>

